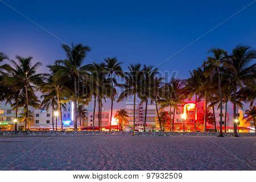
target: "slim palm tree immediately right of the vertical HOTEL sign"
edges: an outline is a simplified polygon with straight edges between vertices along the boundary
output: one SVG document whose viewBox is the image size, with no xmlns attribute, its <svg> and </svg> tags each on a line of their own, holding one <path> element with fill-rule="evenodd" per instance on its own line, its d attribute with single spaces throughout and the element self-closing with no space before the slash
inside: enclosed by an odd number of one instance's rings
<svg viewBox="0 0 256 182">
<path fill-rule="evenodd" d="M 140 98 L 142 102 L 146 103 L 145 108 L 145 116 L 144 116 L 144 132 L 146 132 L 146 121 L 147 121 L 147 105 L 148 100 L 151 98 L 151 94 L 154 90 L 152 90 L 152 86 L 154 86 L 154 79 L 156 78 L 156 75 L 158 75 L 158 68 L 153 68 L 152 66 L 147 67 L 144 65 L 143 69 L 143 79 L 141 81 L 141 94 Z"/>
</svg>

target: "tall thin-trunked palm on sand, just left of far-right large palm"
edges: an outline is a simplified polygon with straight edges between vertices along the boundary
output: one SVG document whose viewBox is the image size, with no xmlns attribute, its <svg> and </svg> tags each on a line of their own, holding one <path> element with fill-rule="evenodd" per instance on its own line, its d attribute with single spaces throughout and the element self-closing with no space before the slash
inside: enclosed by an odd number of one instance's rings
<svg viewBox="0 0 256 182">
<path fill-rule="evenodd" d="M 221 93 L 221 76 L 220 69 L 223 64 L 223 60 L 226 57 L 227 52 L 223 49 L 212 49 L 210 50 L 213 53 L 213 57 L 208 57 L 207 62 L 205 63 L 207 67 L 205 68 L 205 74 L 209 75 L 210 81 L 213 80 L 213 77 L 217 75 L 218 77 L 218 98 L 220 98 L 220 135 L 218 137 L 224 137 L 222 133 L 222 93 Z M 213 107 L 214 108 L 214 107 Z M 213 109 L 214 110 L 214 109 Z M 215 116 L 214 116 L 215 117 Z"/>
</svg>

